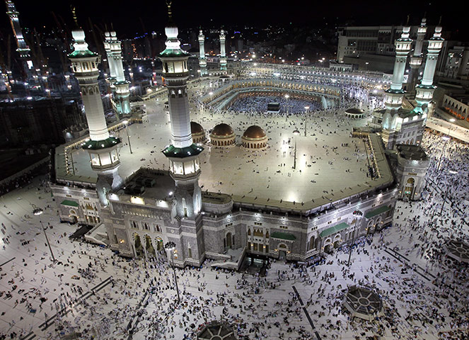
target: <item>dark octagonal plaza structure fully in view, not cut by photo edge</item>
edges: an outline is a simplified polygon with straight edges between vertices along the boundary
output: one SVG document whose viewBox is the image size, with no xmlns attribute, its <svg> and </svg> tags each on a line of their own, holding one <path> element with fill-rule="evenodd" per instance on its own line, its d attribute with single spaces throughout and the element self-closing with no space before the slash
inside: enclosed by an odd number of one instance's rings
<svg viewBox="0 0 469 340">
<path fill-rule="evenodd" d="M 347 290 L 344 299 L 344 307 L 352 314 L 352 317 L 372 320 L 383 315 L 383 300 L 374 290 L 366 287 L 352 285 Z"/>
</svg>

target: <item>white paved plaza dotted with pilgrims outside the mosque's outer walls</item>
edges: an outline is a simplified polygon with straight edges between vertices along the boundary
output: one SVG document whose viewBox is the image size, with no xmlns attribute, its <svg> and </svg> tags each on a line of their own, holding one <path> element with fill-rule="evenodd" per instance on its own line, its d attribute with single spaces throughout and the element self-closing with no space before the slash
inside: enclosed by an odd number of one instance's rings
<svg viewBox="0 0 469 340">
<path fill-rule="evenodd" d="M 355 103 L 361 95 L 357 92 L 342 106 Z M 50 339 L 72 332 L 80 334 L 79 339 L 127 339 L 132 333 L 144 334 L 145 339 L 196 339 L 197 330 L 214 319 L 233 325 L 240 339 L 308 340 L 315 339 L 314 331 L 321 339 L 389 333 L 394 339 L 469 339 L 468 266 L 450 259 L 444 248 L 448 238 L 469 242 L 468 145 L 445 142 L 427 131 L 422 146 L 430 158 L 423 199 L 398 201 L 394 225 L 358 239 L 350 267 L 347 246 L 306 263 L 271 260 L 265 277 L 213 268 L 207 260 L 200 268 L 176 268 L 178 303 L 165 254 L 126 260 L 108 249 L 71 242 L 50 225 L 51 242 L 62 249 L 57 263 L 45 266 L 37 261 L 46 258 L 47 251 L 29 242 L 35 234 L 28 229 L 21 234 L 18 249 L 37 253 L 33 266 L 37 277 L 31 280 L 37 287 L 21 288 L 26 267 L 8 265 L 1 269 L 0 296 L 16 300 L 15 307 L 25 314 L 34 311 L 47 319 L 58 313 L 47 329 Z M 39 190 L 48 192 L 45 183 Z M 444 198 L 448 201 L 440 215 Z M 4 247 L 13 246 L 17 229 L 2 224 Z M 64 283 L 58 291 L 47 284 L 41 275 L 45 272 Z M 79 300 L 83 291 L 102 282 L 103 274 L 111 277 L 111 284 Z M 345 311 L 343 297 L 347 285 L 354 284 L 380 294 L 383 317 L 365 322 Z M 308 323 L 293 285 L 315 328 Z M 69 314 L 59 312 L 67 309 Z M 19 339 L 33 329 L 18 329 L 18 321 L 9 322 L 0 339 Z"/>
</svg>

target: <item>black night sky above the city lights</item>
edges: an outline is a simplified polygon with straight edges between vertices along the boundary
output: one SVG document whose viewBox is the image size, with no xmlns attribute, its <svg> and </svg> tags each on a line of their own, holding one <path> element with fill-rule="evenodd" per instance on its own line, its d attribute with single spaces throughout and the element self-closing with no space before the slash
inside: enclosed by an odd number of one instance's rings
<svg viewBox="0 0 469 340">
<path fill-rule="evenodd" d="M 3 1 L 2 1 L 3 2 Z M 76 4 L 80 22 L 88 17 L 93 23 L 114 24 L 119 35 L 131 38 L 135 33 L 162 30 L 166 23 L 166 4 L 158 1 L 89 1 L 71 2 Z M 55 28 L 51 11 L 61 16 L 66 23 L 71 23 L 68 1 L 15 1 L 20 11 L 23 26 L 30 28 L 46 25 Z M 114 4 L 114 5 L 110 5 Z M 5 7 L 4 7 L 5 8 Z M 180 27 L 198 27 L 225 25 L 226 27 L 243 24 L 265 26 L 289 24 L 292 26 L 312 26 L 334 28 L 336 23 L 349 23 L 355 26 L 398 25 L 405 23 L 407 14 L 410 23 L 417 25 L 427 11 L 430 26 L 443 16 L 445 30 L 466 34 L 465 11 L 458 6 L 451 6 L 449 1 L 187 1 L 173 0 L 175 22 Z M 8 17 L 4 14 L 0 20 L 2 30 L 8 29 Z M 240 27 L 241 28 L 241 27 Z M 461 38 L 461 37 L 460 37 Z"/>
</svg>

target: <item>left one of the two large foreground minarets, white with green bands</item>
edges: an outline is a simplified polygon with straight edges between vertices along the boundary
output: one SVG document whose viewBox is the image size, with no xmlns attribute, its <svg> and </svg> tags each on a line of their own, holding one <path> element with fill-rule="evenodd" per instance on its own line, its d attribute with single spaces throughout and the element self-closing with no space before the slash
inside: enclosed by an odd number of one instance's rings
<svg viewBox="0 0 469 340">
<path fill-rule="evenodd" d="M 91 168 L 98 173 L 96 191 L 101 204 L 108 205 L 106 192 L 110 188 L 118 188 L 122 179 L 117 173 L 120 166 L 120 139 L 110 137 L 106 125 L 103 101 L 98 87 L 98 63 L 100 56 L 88 50 L 85 33 L 79 28 L 73 10 L 76 28 L 71 32 L 75 42 L 74 51 L 69 54 L 71 69 L 79 81 L 81 98 L 85 106 L 86 121 L 90 132 L 90 140 L 84 145 L 90 154 Z"/>
</svg>

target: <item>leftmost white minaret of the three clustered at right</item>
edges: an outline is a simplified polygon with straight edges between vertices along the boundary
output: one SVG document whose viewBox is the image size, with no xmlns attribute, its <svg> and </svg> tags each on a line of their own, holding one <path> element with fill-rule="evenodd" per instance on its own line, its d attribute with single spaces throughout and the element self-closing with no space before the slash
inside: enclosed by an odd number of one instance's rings
<svg viewBox="0 0 469 340">
<path fill-rule="evenodd" d="M 383 116 L 383 128 L 387 130 L 395 129 L 395 113 L 403 105 L 405 91 L 403 90 L 405 64 L 407 55 L 412 46 L 412 39 L 409 38 L 410 27 L 404 26 L 403 33 L 398 40 L 395 40 L 395 62 L 393 72 L 393 82 L 390 89 L 386 90 L 384 103 L 386 113 Z"/>
</svg>

